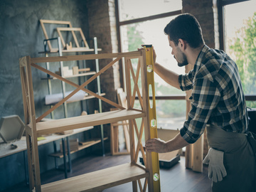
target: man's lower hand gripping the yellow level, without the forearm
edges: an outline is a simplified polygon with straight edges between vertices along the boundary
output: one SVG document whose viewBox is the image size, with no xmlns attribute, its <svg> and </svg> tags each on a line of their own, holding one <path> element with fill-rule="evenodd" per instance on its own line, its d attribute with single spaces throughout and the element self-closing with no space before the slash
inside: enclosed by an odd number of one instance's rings
<svg viewBox="0 0 256 192">
<path fill-rule="evenodd" d="M 149 139 L 146 141 L 146 151 L 166 153 L 166 142 L 161 139 Z"/>
</svg>

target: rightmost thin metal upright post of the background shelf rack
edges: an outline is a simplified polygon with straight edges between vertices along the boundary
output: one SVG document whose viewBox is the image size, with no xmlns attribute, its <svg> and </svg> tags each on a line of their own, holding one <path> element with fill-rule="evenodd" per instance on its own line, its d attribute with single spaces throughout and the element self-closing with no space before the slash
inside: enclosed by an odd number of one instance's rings
<svg viewBox="0 0 256 192">
<path fill-rule="evenodd" d="M 97 54 L 97 37 L 93 38 L 93 42 L 94 42 L 94 47 L 95 47 L 95 54 Z M 98 73 L 100 71 L 100 67 L 99 67 L 99 60 L 95 59 L 95 63 L 96 63 L 96 73 Z M 98 95 L 101 94 L 100 91 L 100 76 L 97 76 L 97 91 L 98 91 Z M 102 112 L 102 100 L 99 99 L 99 112 Z M 105 156 L 105 149 L 104 149 L 104 132 L 103 132 L 103 125 L 100 125 L 100 133 L 101 133 L 101 141 L 102 141 L 102 155 Z"/>
</svg>

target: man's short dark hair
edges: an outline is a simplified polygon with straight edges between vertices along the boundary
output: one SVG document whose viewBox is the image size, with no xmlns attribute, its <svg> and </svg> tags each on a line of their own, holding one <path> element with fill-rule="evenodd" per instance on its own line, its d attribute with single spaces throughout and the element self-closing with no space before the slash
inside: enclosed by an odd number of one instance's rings
<svg viewBox="0 0 256 192">
<path fill-rule="evenodd" d="M 202 29 L 196 17 L 191 14 L 181 14 L 171 20 L 164 28 L 164 33 L 178 46 L 178 39 L 186 41 L 191 48 L 198 48 L 202 44 Z"/>
</svg>

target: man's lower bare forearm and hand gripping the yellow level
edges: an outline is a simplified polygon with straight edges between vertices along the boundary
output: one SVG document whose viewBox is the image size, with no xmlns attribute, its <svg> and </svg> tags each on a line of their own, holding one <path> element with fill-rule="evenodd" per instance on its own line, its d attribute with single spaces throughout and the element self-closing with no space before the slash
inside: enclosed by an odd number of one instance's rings
<svg viewBox="0 0 256 192">
<path fill-rule="evenodd" d="M 146 151 L 156 152 L 156 153 L 166 153 L 177 149 L 181 149 L 187 146 L 188 142 L 181 137 L 181 134 L 177 134 L 174 139 L 164 142 L 161 139 L 149 139 L 146 141 Z"/>
</svg>

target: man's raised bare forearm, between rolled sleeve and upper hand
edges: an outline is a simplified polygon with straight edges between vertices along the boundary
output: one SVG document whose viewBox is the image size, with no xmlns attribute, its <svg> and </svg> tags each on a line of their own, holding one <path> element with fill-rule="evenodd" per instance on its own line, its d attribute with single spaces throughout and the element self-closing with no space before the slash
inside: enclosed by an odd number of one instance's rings
<svg viewBox="0 0 256 192">
<path fill-rule="evenodd" d="M 174 73 L 171 70 L 164 68 L 159 63 L 154 63 L 154 71 L 157 75 L 160 76 L 165 82 L 169 85 L 176 87 L 178 90 L 181 90 L 181 87 L 178 84 L 178 74 Z"/>
</svg>

